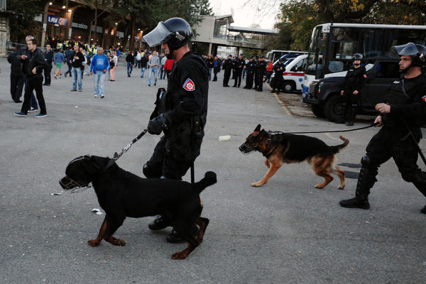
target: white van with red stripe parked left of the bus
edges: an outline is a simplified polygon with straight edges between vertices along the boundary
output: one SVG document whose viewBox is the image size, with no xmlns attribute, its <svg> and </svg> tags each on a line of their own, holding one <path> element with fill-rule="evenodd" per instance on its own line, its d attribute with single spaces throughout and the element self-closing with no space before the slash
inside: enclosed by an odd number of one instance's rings
<svg viewBox="0 0 426 284">
<path fill-rule="evenodd" d="M 283 91 L 286 93 L 301 91 L 302 81 L 305 76 L 307 54 L 299 55 L 297 58 L 291 60 L 288 65 L 285 66 L 283 72 Z M 271 76 L 271 82 L 275 77 L 275 73 Z"/>
</svg>

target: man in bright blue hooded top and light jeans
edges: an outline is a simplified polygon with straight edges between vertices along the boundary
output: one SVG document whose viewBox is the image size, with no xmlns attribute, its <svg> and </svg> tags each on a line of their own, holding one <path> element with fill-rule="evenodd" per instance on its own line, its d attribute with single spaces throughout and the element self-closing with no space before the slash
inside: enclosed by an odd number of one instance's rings
<svg viewBox="0 0 426 284">
<path fill-rule="evenodd" d="M 132 56 L 133 57 L 133 56 Z M 104 48 L 99 47 L 97 54 L 92 58 L 90 63 L 90 75 L 93 77 L 94 97 L 100 96 L 102 99 L 104 94 L 105 73 L 107 73 L 109 60 L 107 55 L 104 55 Z"/>
</svg>

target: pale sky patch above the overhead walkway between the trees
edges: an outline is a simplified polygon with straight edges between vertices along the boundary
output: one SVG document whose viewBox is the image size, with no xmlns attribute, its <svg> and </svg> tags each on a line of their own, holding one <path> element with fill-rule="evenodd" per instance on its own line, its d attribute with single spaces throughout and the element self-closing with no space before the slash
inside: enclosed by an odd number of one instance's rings
<svg viewBox="0 0 426 284">
<path fill-rule="evenodd" d="M 257 23 L 260 28 L 273 29 L 279 13 L 279 1 L 268 0 L 209 0 L 215 15 L 222 16 L 234 11 L 231 26 L 250 27 Z M 263 3 L 263 5 L 262 5 Z M 265 5 L 267 3 L 268 5 Z"/>
</svg>

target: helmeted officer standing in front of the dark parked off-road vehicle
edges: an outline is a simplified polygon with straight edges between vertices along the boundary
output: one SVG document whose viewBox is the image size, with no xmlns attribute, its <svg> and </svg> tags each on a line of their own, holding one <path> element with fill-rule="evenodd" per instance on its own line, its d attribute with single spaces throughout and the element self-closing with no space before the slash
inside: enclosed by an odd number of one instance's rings
<svg viewBox="0 0 426 284">
<path fill-rule="evenodd" d="M 343 89 L 340 94 L 343 96 L 342 114 L 340 119 L 335 121 L 337 124 L 344 124 L 347 116 L 346 125 L 353 126 L 358 108 L 359 96 L 361 89 L 366 85 L 366 68 L 361 67 L 361 53 L 355 53 L 352 56 L 354 65 L 346 73 L 344 77 Z"/>
</svg>

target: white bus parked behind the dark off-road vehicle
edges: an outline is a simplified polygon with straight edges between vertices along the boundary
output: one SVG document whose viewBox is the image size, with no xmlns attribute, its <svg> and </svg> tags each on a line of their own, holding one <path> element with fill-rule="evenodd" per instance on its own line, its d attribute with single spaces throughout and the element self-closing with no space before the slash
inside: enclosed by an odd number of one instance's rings
<svg viewBox="0 0 426 284">
<path fill-rule="evenodd" d="M 364 55 L 363 63 L 390 56 L 393 45 L 426 44 L 426 26 L 323 23 L 312 31 L 302 82 L 302 102 L 315 79 L 344 77 L 352 55 Z"/>
</svg>

